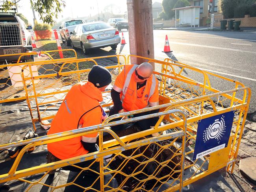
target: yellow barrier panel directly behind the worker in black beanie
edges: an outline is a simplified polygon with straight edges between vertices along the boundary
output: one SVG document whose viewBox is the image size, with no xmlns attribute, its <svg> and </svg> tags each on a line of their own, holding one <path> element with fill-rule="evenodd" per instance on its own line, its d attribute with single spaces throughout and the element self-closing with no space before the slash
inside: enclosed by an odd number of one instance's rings
<svg viewBox="0 0 256 192">
<path fill-rule="evenodd" d="M 98 65 L 95 60 L 101 58 L 116 59 L 117 65 L 106 67 L 111 71 L 113 77 L 119 74 L 123 66 L 120 63 L 120 59 L 126 63 L 124 55 L 110 55 L 106 57 L 73 59 L 58 65 L 58 70 L 56 70 L 56 66 L 52 65 L 52 63 L 32 63 L 23 66 L 22 79 L 34 129 L 36 129 L 35 122 L 48 125 L 43 120 L 50 120 L 55 116 L 59 104 L 65 98 L 65 95 L 71 88 L 70 86 L 79 81 L 85 81 L 92 64 Z M 88 66 L 88 62 L 92 64 Z M 33 75 L 33 67 L 37 68 L 40 74 Z M 108 92 L 110 91 L 106 91 L 105 94 Z M 111 98 L 108 99 L 108 102 L 103 107 L 109 105 L 112 105 Z M 53 112 L 53 109 L 57 110 Z"/>
</svg>

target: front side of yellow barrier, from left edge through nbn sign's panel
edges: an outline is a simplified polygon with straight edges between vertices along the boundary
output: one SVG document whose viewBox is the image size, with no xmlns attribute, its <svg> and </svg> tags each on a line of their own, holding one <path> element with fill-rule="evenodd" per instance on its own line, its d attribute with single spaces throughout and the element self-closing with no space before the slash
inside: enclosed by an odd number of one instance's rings
<svg viewBox="0 0 256 192">
<path fill-rule="evenodd" d="M 246 87 L 222 92 L 221 95 L 225 95 L 225 94 L 232 95 L 234 94 L 234 92 L 244 92 L 244 90 L 247 90 L 248 94 L 250 95 L 250 89 Z M 126 191 L 126 190 L 122 190 L 122 188 L 128 185 L 128 183 L 132 184 L 132 186 L 130 187 L 132 187 L 133 190 L 146 189 L 150 191 L 153 188 L 156 188 L 159 191 L 163 191 L 165 189 L 168 191 L 176 191 L 176 190 L 181 191 L 182 185 L 186 186 L 190 183 L 193 183 L 198 179 L 205 177 L 206 175 L 209 175 L 227 165 L 229 167 L 229 165 L 232 163 L 233 163 L 232 164 L 232 170 L 233 170 L 233 167 L 236 163 L 236 156 L 238 153 L 238 148 L 241 140 L 241 135 L 242 135 L 241 133 L 243 131 L 246 113 L 248 111 L 249 101 L 248 103 L 245 102 L 242 104 L 236 104 L 233 107 L 217 109 L 215 104 L 212 102 L 211 98 L 214 98 L 218 94 L 219 93 L 215 93 L 215 94 L 200 96 L 197 98 L 190 98 L 190 99 L 173 102 L 173 103 L 167 102 L 165 104 L 162 104 L 156 107 L 150 107 L 146 109 L 141 109 L 137 111 L 126 112 L 126 113 L 110 116 L 104 121 L 104 124 L 102 125 L 83 128 L 81 130 L 76 129 L 76 130 L 68 131 L 65 133 L 48 135 L 48 136 L 43 136 L 35 139 L 1 145 L 0 150 L 9 148 L 9 147 L 28 144 L 20 152 L 19 156 L 15 160 L 13 167 L 11 168 L 9 173 L 0 175 L 0 181 L 5 182 L 13 179 L 19 179 L 20 181 L 30 183 L 29 187 L 26 189 L 27 190 L 31 189 L 31 191 L 33 191 L 33 187 L 38 184 L 48 186 L 52 189 L 65 188 L 65 187 L 68 187 L 69 185 L 78 186 L 76 184 L 77 177 L 73 181 L 70 181 L 67 183 L 61 183 L 61 185 L 56 185 L 56 186 L 48 185 L 44 183 L 44 181 L 46 179 L 47 173 L 50 170 L 54 170 L 59 167 L 67 166 L 70 164 L 72 165 L 81 161 L 86 161 L 91 159 L 95 159 L 94 160 L 95 162 L 99 161 L 99 163 L 103 163 L 102 158 L 104 156 L 114 153 L 115 158 L 113 158 L 110 162 L 108 162 L 108 164 L 104 164 L 103 166 L 100 166 L 100 168 L 102 169 L 96 171 L 98 174 L 98 178 L 95 180 L 95 182 L 99 181 L 101 186 L 101 189 L 98 191 L 103 191 L 102 190 L 103 188 L 105 188 L 104 189 L 105 191 L 117 191 L 117 190 Z M 201 105 L 202 102 L 210 103 L 209 105 L 211 107 L 210 110 L 208 110 L 206 113 L 203 113 L 203 114 L 196 114 L 196 113 L 190 114 L 186 122 L 185 121 L 186 116 L 187 114 L 189 114 L 189 111 L 184 110 L 184 107 L 188 107 L 192 105 Z M 183 109 L 182 112 L 180 112 L 179 108 Z M 162 112 L 157 114 L 151 114 L 148 116 L 142 116 L 139 118 L 130 118 L 128 120 L 121 120 L 118 122 L 109 123 L 109 121 L 113 118 L 141 113 L 145 111 L 151 111 L 154 109 L 161 109 Z M 175 109 L 175 113 L 174 111 L 172 111 L 173 109 Z M 176 113 L 177 111 L 179 113 Z M 232 128 L 232 133 L 230 135 L 230 141 L 228 143 L 228 146 L 222 150 L 213 152 L 210 155 L 205 155 L 195 161 L 192 161 L 192 156 L 193 156 L 194 147 L 195 147 L 194 144 L 196 139 L 196 130 L 197 130 L 196 127 L 197 127 L 198 121 L 204 118 L 215 116 L 217 114 L 223 114 L 229 111 L 234 111 L 234 113 L 236 113 L 236 116 L 233 121 L 233 128 Z M 156 124 L 154 129 L 140 131 L 139 133 L 133 133 L 131 135 L 126 135 L 124 137 L 118 137 L 114 133 L 112 133 L 111 130 L 107 128 L 108 126 L 113 126 L 113 125 L 127 123 L 127 122 L 133 122 L 136 120 L 140 120 L 141 118 L 150 118 L 152 116 L 160 116 L 160 120 Z M 160 121 L 162 120 L 165 121 L 165 125 L 160 126 Z M 191 128 L 193 128 L 193 130 L 190 131 L 188 129 L 186 131 L 186 138 L 183 138 L 181 142 L 179 138 L 185 136 L 184 130 L 186 130 L 186 126 L 190 126 Z M 169 132 L 171 133 L 163 134 L 160 137 L 154 137 L 154 138 L 146 137 L 147 135 L 150 135 L 152 133 L 163 132 L 163 131 L 166 131 L 167 129 L 170 130 Z M 25 170 L 16 171 L 16 168 L 20 162 L 20 159 L 23 153 L 28 148 L 31 148 L 32 146 L 37 146 L 40 144 L 47 144 L 50 142 L 56 142 L 59 140 L 65 140 L 68 138 L 90 134 L 92 131 L 100 132 L 100 135 L 99 135 L 100 151 L 99 152 L 83 155 L 80 157 L 74 157 L 72 159 L 62 160 L 58 162 L 52 162 L 50 164 L 44 164 L 41 166 L 27 168 Z M 102 131 L 106 131 L 110 133 L 115 139 L 102 142 Z M 79 133 L 79 134 L 76 134 L 76 133 Z M 152 149 L 154 149 L 152 151 L 153 155 L 148 156 L 148 154 L 146 153 L 146 149 L 148 150 L 151 149 L 151 151 Z M 128 153 L 129 150 L 132 150 L 132 151 Z M 158 159 L 159 155 L 163 153 L 167 153 L 164 150 L 167 150 L 171 153 L 170 157 L 167 157 L 165 161 L 163 160 L 160 161 Z M 185 151 L 185 154 L 186 154 L 184 161 L 182 161 L 181 151 Z M 120 162 L 120 165 L 118 164 L 119 165 L 118 167 L 115 167 L 115 165 L 117 164 L 117 159 L 119 159 L 119 161 L 121 162 Z M 148 172 L 145 173 L 144 171 L 147 166 L 152 166 L 150 162 L 154 162 L 153 164 L 156 163 L 156 171 L 151 174 L 148 174 Z M 135 164 L 137 166 L 135 170 L 129 169 L 129 167 L 131 167 L 132 164 Z M 185 176 L 184 176 L 184 179 L 182 180 L 182 177 L 179 173 L 183 172 L 182 171 L 183 166 L 184 166 Z M 167 168 L 167 170 L 165 170 L 165 168 Z M 85 170 L 91 170 L 90 166 L 86 168 L 80 168 L 80 169 L 81 169 L 80 174 L 82 174 L 82 172 Z M 108 172 L 105 172 L 104 170 L 107 170 Z M 166 173 L 164 170 L 168 172 L 168 174 L 163 174 L 163 173 Z M 29 180 L 29 177 L 28 179 L 22 178 L 22 177 L 26 177 L 28 175 L 34 175 L 40 172 L 46 172 L 46 173 L 43 174 L 42 177 L 40 177 L 39 179 L 33 182 Z M 111 174 L 112 178 L 117 179 L 119 183 L 119 186 L 117 188 L 111 188 L 110 186 L 108 186 L 108 184 L 106 183 L 104 184 L 104 175 L 106 174 Z M 152 185 L 152 183 L 156 185 Z M 87 190 L 87 189 L 93 190 L 94 185 L 87 186 L 87 188 L 80 185 L 79 187 L 83 188 L 84 190 Z"/>
</svg>

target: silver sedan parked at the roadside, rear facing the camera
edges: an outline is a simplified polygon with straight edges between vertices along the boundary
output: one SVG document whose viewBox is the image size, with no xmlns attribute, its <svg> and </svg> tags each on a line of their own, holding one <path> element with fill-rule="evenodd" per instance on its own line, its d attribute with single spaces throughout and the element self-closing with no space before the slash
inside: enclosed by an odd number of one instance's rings
<svg viewBox="0 0 256 192">
<path fill-rule="evenodd" d="M 111 46 L 116 49 L 121 41 L 118 30 L 101 21 L 77 25 L 70 34 L 72 48 L 81 48 L 84 54 L 92 48 Z"/>
</svg>

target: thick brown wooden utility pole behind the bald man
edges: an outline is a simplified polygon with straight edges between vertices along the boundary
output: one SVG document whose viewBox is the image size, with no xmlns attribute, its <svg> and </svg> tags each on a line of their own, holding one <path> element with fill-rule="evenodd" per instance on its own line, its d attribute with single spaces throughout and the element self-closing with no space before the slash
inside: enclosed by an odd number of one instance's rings
<svg viewBox="0 0 256 192">
<path fill-rule="evenodd" d="M 152 0 L 127 0 L 130 54 L 154 59 Z M 145 59 L 132 59 L 141 64 Z M 152 63 L 153 67 L 154 64 Z"/>
</svg>

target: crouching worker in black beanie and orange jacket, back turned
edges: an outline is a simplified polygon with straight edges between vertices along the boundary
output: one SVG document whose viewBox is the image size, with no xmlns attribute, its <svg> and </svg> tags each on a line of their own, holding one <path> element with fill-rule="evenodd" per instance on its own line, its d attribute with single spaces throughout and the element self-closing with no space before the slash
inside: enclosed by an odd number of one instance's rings
<svg viewBox="0 0 256 192">
<path fill-rule="evenodd" d="M 109 83 L 111 83 L 110 72 L 102 66 L 94 65 L 88 74 L 88 81 L 76 83 L 69 90 L 52 120 L 47 135 L 102 123 L 106 119 L 106 113 L 100 106 L 100 102 L 103 100 L 102 92 L 105 91 Z M 97 135 L 98 133 L 95 132 L 82 137 L 49 143 L 47 145 L 47 162 L 60 161 L 97 151 Z M 93 161 L 95 159 L 79 162 L 76 165 L 82 168 L 90 165 L 91 169 L 98 171 L 99 163 L 95 161 L 91 165 Z M 66 166 L 63 169 L 81 172 L 80 168 L 74 166 Z M 49 174 L 53 173 L 54 171 Z M 88 171 L 85 174 L 88 174 Z M 90 175 L 98 177 L 98 174 L 94 172 L 90 172 Z M 115 183 L 115 179 L 113 182 Z"/>
</svg>

